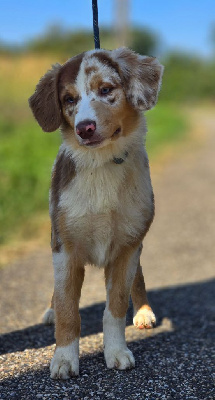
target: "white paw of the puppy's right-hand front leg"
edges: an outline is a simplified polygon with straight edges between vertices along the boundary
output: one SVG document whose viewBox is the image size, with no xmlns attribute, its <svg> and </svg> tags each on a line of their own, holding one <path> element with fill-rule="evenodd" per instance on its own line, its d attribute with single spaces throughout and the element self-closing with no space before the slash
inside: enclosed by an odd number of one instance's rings
<svg viewBox="0 0 215 400">
<path fill-rule="evenodd" d="M 108 368 L 123 370 L 135 367 L 134 356 L 127 347 L 105 351 L 105 360 Z"/>
</svg>

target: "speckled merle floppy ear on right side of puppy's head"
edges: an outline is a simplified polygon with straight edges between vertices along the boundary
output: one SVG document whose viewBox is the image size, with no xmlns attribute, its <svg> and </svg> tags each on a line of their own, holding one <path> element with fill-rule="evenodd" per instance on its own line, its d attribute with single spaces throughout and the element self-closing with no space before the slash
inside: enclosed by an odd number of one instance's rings
<svg viewBox="0 0 215 400">
<path fill-rule="evenodd" d="M 127 48 L 112 51 L 128 101 L 139 110 L 155 106 L 164 67 L 154 57 L 141 56 Z"/>
</svg>

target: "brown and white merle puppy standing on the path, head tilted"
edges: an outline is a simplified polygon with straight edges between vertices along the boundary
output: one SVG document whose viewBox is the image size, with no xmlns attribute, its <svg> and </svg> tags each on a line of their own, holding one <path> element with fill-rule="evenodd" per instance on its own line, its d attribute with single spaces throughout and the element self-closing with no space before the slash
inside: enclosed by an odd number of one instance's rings
<svg viewBox="0 0 215 400">
<path fill-rule="evenodd" d="M 79 373 L 79 300 L 85 265 L 104 268 L 104 355 L 108 368 L 132 368 L 125 341 L 131 294 L 134 325 L 151 328 L 140 253 L 154 216 L 143 111 L 157 101 L 163 67 L 127 48 L 93 50 L 56 64 L 29 103 L 46 132 L 60 128 L 50 190 L 55 316 L 51 377 Z"/>
</svg>

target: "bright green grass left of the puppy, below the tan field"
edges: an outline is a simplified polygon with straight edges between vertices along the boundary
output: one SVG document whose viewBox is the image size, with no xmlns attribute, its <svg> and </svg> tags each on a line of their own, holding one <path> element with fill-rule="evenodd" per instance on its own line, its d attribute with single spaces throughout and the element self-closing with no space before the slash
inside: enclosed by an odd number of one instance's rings
<svg viewBox="0 0 215 400">
<path fill-rule="evenodd" d="M 51 167 L 59 134 L 45 134 L 33 120 L 0 119 L 0 244 L 25 227 L 31 217 L 48 210 Z"/>
</svg>

